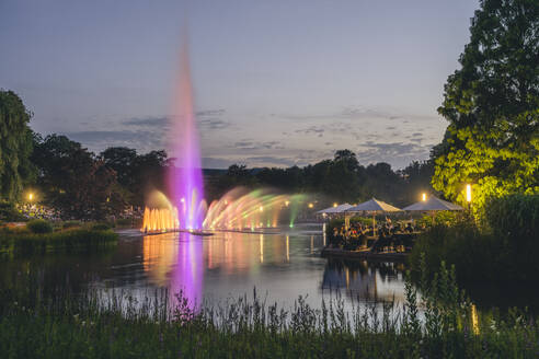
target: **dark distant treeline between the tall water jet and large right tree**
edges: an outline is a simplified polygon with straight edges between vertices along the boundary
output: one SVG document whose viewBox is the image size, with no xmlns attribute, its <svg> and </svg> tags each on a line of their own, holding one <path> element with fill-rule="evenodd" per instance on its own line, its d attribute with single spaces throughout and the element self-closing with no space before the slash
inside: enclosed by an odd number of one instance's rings
<svg viewBox="0 0 539 359">
<path fill-rule="evenodd" d="M 221 196 L 236 186 L 268 186 L 288 193 L 324 195 L 328 201 L 358 202 L 376 197 L 397 206 L 420 199 L 421 193 L 432 193 L 431 177 L 434 165 L 428 161 L 414 161 L 403 170 L 393 171 L 385 162 L 364 166 L 356 154 L 340 150 L 331 160 L 305 167 L 248 169 L 233 164 L 222 174 L 207 176 L 208 199 Z"/>
</svg>

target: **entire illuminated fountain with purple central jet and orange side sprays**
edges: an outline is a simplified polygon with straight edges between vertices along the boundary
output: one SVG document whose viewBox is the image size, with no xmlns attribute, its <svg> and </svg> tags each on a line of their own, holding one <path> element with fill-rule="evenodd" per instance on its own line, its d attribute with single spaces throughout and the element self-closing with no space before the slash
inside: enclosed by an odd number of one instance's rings
<svg viewBox="0 0 539 359">
<path fill-rule="evenodd" d="M 142 232 L 190 231 L 208 234 L 204 231 L 277 227 L 282 212 L 288 213 L 288 224 L 293 227 L 298 206 L 302 201 L 300 195 L 237 188 L 207 207 L 190 73 L 187 46 L 184 45 L 174 97 L 174 115 L 170 118 L 169 153 L 175 159 L 175 166 L 168 173 L 170 200 L 159 193 L 156 196 L 160 204 L 147 205 Z"/>
</svg>

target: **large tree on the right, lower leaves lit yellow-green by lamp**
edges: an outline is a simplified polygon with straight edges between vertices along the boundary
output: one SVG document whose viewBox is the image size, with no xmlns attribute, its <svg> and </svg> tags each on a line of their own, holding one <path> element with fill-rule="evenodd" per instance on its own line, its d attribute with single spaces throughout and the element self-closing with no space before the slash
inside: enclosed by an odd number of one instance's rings
<svg viewBox="0 0 539 359">
<path fill-rule="evenodd" d="M 539 192 L 539 1 L 482 0 L 461 68 L 449 76 L 438 108 L 449 126 L 433 150 L 432 184 L 473 204 Z"/>
</svg>

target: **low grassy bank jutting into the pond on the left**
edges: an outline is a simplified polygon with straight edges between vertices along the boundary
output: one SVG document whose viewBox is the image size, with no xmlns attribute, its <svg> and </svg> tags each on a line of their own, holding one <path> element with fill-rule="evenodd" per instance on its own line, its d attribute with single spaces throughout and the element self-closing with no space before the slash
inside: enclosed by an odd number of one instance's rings
<svg viewBox="0 0 539 359">
<path fill-rule="evenodd" d="M 95 251 L 115 245 L 118 234 L 107 229 L 74 228 L 49 233 L 0 232 L 0 254 L 44 254 Z"/>
</svg>

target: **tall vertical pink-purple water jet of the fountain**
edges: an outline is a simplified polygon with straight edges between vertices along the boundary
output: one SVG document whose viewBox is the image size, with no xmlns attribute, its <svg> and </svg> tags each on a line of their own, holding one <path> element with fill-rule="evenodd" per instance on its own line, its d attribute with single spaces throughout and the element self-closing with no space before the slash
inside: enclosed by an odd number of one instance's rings
<svg viewBox="0 0 539 359">
<path fill-rule="evenodd" d="M 172 204 L 177 208 L 180 228 L 200 229 L 204 217 L 204 186 L 186 40 L 181 50 L 173 116 L 170 123 L 169 153 L 175 159 L 175 169 L 168 175 Z"/>
</svg>

